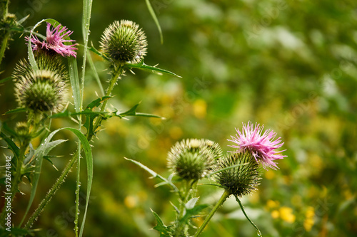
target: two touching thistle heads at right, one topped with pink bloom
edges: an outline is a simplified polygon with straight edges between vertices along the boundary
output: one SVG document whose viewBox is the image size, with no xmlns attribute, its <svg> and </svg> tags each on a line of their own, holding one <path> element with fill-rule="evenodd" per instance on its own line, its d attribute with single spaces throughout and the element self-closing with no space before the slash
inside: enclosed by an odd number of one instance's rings
<svg viewBox="0 0 357 237">
<path fill-rule="evenodd" d="M 229 195 L 237 197 L 251 194 L 260 184 L 259 164 L 276 169 L 275 159 L 283 159 L 281 138 L 272 130 L 263 131 L 263 126 L 251 122 L 243 124 L 243 130 L 231 142 L 236 148 L 223 156 L 219 144 L 207 139 L 186 139 L 177 142 L 168 154 L 168 166 L 182 179 L 198 180 L 213 172 L 216 181 Z"/>
</svg>

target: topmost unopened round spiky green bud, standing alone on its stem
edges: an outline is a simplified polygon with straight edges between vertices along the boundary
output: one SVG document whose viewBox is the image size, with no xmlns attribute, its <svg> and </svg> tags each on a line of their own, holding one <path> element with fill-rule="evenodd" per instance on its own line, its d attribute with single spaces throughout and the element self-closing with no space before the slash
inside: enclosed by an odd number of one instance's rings
<svg viewBox="0 0 357 237">
<path fill-rule="evenodd" d="M 104 54 L 119 63 L 140 63 L 146 55 L 146 36 L 133 21 L 114 21 L 101 36 Z"/>
</svg>

